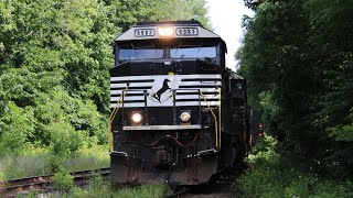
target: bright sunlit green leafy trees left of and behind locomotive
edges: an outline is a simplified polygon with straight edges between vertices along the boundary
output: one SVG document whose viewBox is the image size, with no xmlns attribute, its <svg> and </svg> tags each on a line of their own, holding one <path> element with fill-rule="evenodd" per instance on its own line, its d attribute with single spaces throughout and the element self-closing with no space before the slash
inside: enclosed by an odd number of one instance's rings
<svg viewBox="0 0 353 198">
<path fill-rule="evenodd" d="M 0 0 L 0 154 L 104 144 L 111 42 L 138 21 L 197 19 L 204 0 Z"/>
</svg>

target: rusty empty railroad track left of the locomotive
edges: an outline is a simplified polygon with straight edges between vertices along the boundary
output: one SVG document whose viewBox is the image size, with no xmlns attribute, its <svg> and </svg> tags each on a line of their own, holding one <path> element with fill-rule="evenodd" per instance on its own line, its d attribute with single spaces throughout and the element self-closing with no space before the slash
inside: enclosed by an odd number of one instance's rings
<svg viewBox="0 0 353 198">
<path fill-rule="evenodd" d="M 93 174 L 107 177 L 110 175 L 110 168 L 86 169 L 71 173 L 76 185 L 85 184 L 85 182 L 90 178 Z M 52 188 L 50 187 L 50 183 L 53 180 L 53 177 L 54 175 L 42 175 L 4 182 L 0 180 L 0 197 L 13 197 L 15 194 L 34 189 L 40 191 L 51 190 Z"/>
</svg>

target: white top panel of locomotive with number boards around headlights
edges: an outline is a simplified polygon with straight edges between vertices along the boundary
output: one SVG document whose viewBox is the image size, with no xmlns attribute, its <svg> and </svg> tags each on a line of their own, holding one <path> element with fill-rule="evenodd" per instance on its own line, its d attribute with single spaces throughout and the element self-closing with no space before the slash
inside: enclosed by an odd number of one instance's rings
<svg viewBox="0 0 353 198">
<path fill-rule="evenodd" d="M 170 28 L 173 32 L 170 36 L 161 36 L 159 29 Z M 153 38 L 221 38 L 220 35 L 206 30 L 199 21 L 156 21 L 156 22 L 139 22 L 137 25 L 120 34 L 116 41 L 131 40 L 153 40 Z M 222 40 L 222 42 L 224 42 Z"/>
</svg>

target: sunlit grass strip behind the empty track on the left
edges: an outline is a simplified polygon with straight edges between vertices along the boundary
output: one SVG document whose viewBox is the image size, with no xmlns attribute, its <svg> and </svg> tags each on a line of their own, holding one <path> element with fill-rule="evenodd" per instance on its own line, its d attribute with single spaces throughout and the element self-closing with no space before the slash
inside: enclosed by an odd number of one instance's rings
<svg viewBox="0 0 353 198">
<path fill-rule="evenodd" d="M 0 157 L 0 180 L 53 174 L 55 158 L 45 148 L 30 148 L 20 156 Z M 68 172 L 109 167 L 106 145 L 84 146 L 75 155 L 58 158 Z"/>
</svg>

